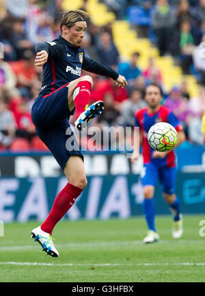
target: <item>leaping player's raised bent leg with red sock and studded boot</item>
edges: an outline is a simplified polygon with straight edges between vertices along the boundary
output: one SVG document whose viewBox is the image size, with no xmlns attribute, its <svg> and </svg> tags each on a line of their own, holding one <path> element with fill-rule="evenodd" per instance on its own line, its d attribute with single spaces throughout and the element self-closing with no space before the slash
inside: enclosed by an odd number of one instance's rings
<svg viewBox="0 0 205 296">
<path fill-rule="evenodd" d="M 85 75 L 70 82 L 68 86 L 68 106 L 72 110 L 75 106 L 76 118 L 74 125 L 78 130 L 83 130 L 94 117 L 102 113 L 104 103 L 97 101 L 88 107 L 92 77 Z"/>
</svg>

